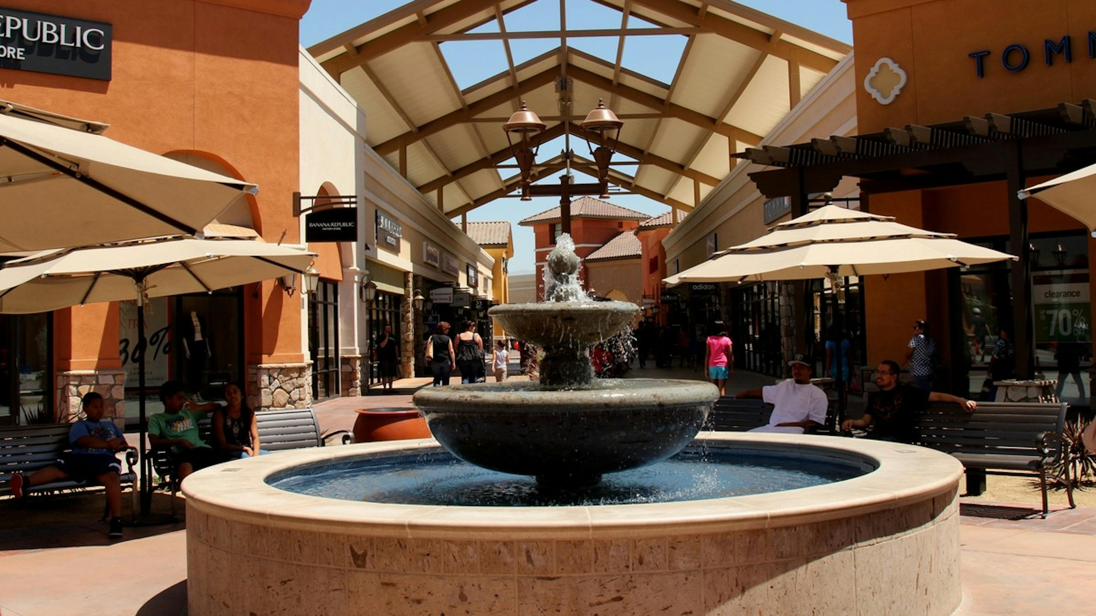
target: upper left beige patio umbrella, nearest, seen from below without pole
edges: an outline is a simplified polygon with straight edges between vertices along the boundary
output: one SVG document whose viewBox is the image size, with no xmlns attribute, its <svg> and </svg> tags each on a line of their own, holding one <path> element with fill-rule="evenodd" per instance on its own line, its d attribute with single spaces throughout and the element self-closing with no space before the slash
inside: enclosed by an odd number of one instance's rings
<svg viewBox="0 0 1096 616">
<path fill-rule="evenodd" d="M 195 235 L 254 184 L 0 101 L 0 252 Z"/>
</svg>

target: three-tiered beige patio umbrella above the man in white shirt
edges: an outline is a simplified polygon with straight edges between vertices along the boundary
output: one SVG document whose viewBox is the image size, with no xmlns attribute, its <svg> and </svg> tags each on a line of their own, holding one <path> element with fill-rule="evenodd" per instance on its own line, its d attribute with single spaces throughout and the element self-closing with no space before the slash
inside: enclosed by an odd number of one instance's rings
<svg viewBox="0 0 1096 616">
<path fill-rule="evenodd" d="M 670 286 L 690 282 L 800 281 L 829 278 L 833 315 L 840 317 L 838 293 L 843 276 L 899 274 L 944 267 L 966 267 L 1016 256 L 879 216 L 824 205 L 781 223 L 753 241 L 717 252 L 704 263 L 674 274 Z M 835 355 L 840 355 L 841 341 Z M 843 385 L 836 357 L 837 391 Z"/>
</svg>

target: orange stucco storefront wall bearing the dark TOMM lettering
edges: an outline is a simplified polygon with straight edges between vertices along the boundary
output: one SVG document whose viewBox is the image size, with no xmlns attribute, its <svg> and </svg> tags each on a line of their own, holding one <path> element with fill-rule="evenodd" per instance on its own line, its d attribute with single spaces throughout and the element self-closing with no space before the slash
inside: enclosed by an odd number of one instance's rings
<svg viewBox="0 0 1096 616">
<path fill-rule="evenodd" d="M 859 133 L 960 121 L 990 112 L 1053 107 L 1096 94 L 1096 59 L 1088 57 L 1088 31 L 1096 30 L 1096 2 L 1092 0 L 844 1 L 853 20 L 857 83 L 863 84 L 881 57 L 895 60 L 907 76 L 905 87 L 889 105 L 878 103 L 858 85 Z M 1057 55 L 1047 66 L 1043 41 L 1058 43 L 1064 35 L 1072 37 L 1073 61 L 1065 62 Z M 1026 46 L 1030 54 L 1027 68 L 1016 72 L 1005 70 L 1001 58 L 1013 44 Z M 983 49 L 990 55 L 984 58 L 984 77 L 979 78 L 975 61 L 968 54 Z M 1031 178 L 1027 184 L 1039 181 Z M 870 209 L 961 238 L 1004 236 L 1009 230 L 1006 191 L 1004 182 L 992 182 L 877 194 L 870 196 Z M 1036 199 L 1028 207 L 1031 232 L 1083 228 Z M 865 301 L 870 363 L 900 360 L 914 319 L 929 319 L 933 335 L 947 339 L 946 281 L 943 272 L 868 277 Z"/>
</svg>

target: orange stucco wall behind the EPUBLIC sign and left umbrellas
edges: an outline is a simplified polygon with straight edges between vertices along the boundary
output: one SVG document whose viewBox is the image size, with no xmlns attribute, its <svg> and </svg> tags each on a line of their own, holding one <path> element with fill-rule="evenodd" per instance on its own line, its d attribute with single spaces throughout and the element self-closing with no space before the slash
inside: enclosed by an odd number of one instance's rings
<svg viewBox="0 0 1096 616">
<path fill-rule="evenodd" d="M 113 25 L 111 81 L 0 69 L 0 98 L 111 124 L 113 139 L 158 153 L 205 152 L 260 186 L 256 229 L 298 241 L 297 28 L 309 0 L 11 0 L 11 9 Z M 94 238 L 89 238 L 93 241 Z M 248 361 L 300 362 L 296 298 L 273 282 L 244 294 Z M 55 313 L 59 369 L 118 362 L 117 308 Z"/>
</svg>

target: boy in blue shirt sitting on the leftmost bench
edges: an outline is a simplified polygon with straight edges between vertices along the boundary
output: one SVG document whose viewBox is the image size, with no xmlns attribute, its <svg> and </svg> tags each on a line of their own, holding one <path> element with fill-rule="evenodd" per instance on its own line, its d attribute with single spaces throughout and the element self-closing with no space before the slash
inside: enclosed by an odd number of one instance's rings
<svg viewBox="0 0 1096 616">
<path fill-rule="evenodd" d="M 103 397 L 94 391 L 84 395 L 83 412 L 88 419 L 77 421 L 69 430 L 70 452 L 65 452 L 57 464 L 36 470 L 26 477 L 16 472 L 11 477 L 11 493 L 23 498 L 24 490 L 53 481 L 95 480 L 106 488 L 106 502 L 111 510 L 110 536 L 122 536 L 122 464 L 116 452 L 129 448 L 125 436 L 111 420 L 103 419 Z"/>
</svg>

